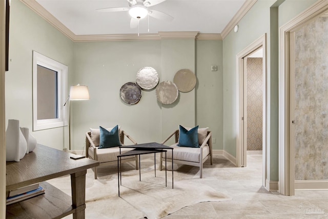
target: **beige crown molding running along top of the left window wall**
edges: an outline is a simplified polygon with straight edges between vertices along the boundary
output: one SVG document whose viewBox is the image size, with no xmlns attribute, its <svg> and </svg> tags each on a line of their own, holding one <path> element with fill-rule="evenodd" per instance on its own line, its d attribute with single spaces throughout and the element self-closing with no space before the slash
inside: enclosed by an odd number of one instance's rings
<svg viewBox="0 0 328 219">
<path fill-rule="evenodd" d="M 50 14 L 44 7 L 38 4 L 35 0 L 20 0 L 29 8 L 31 8 L 35 13 L 43 17 L 48 23 L 52 24 L 55 28 L 57 28 L 60 32 L 64 33 L 67 37 L 74 41 L 75 34 L 68 29 L 63 23 L 58 21 L 56 17 Z"/>
</svg>

